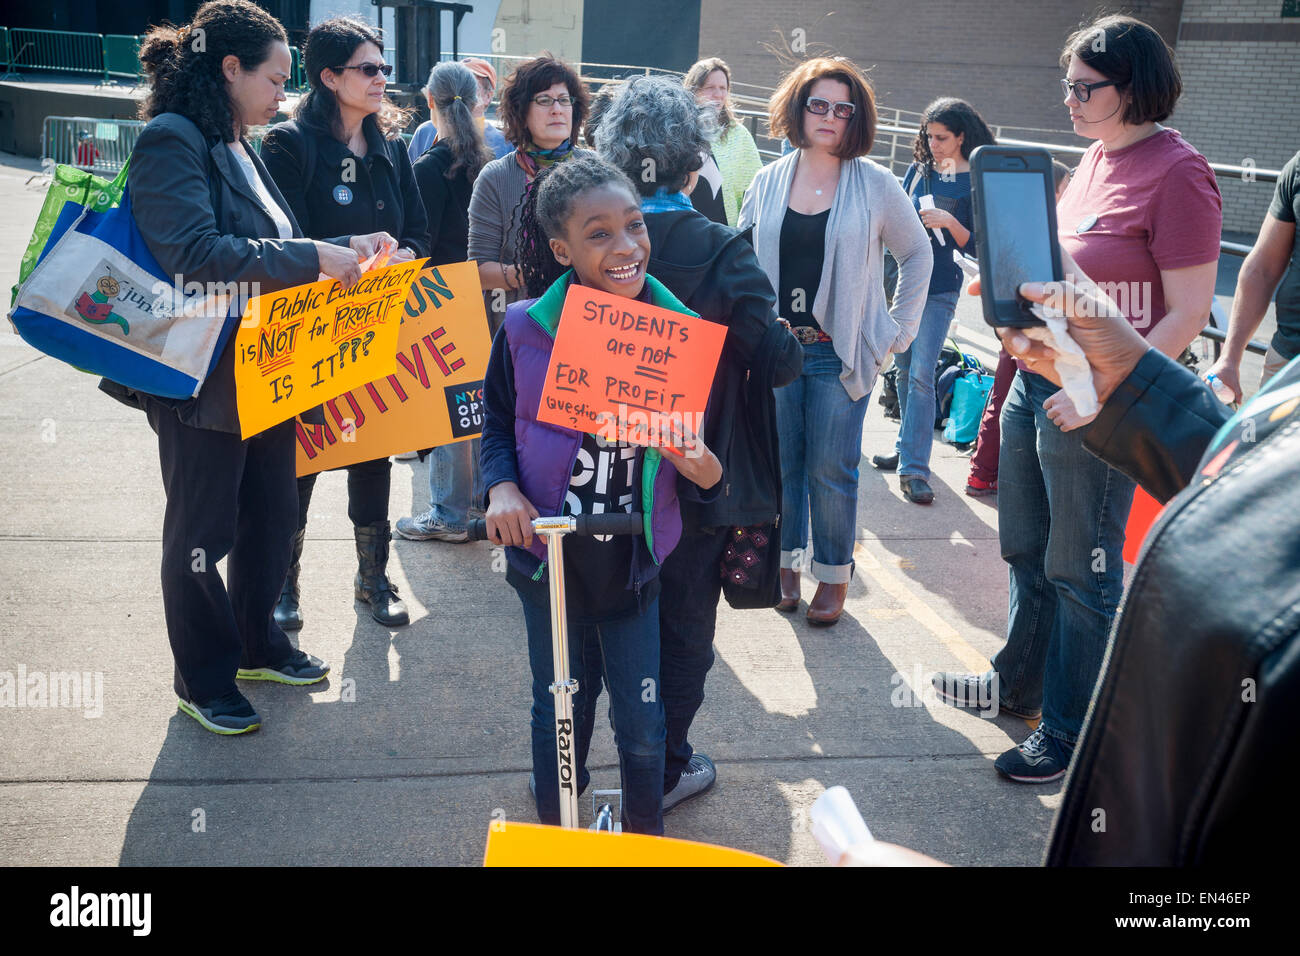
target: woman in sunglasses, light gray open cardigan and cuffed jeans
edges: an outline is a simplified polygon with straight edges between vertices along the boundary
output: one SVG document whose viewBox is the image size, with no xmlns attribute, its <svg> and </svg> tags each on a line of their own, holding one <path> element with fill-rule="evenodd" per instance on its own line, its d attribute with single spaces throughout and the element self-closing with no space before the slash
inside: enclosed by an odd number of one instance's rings
<svg viewBox="0 0 1300 956">
<path fill-rule="evenodd" d="M 816 593 L 807 619 L 833 624 L 853 578 L 862 419 L 876 373 L 916 334 L 930 282 L 930 239 L 898 181 L 866 157 L 876 104 L 844 57 L 800 64 L 772 94 L 771 135 L 796 147 L 764 166 L 745 194 L 740 228 L 777 291 L 777 311 L 803 343 L 803 372 L 776 390 L 781 444 L 781 604 L 800 602 L 809 566 Z M 885 304 L 884 247 L 898 260 Z"/>
</svg>

